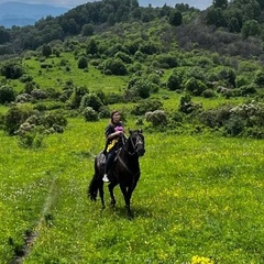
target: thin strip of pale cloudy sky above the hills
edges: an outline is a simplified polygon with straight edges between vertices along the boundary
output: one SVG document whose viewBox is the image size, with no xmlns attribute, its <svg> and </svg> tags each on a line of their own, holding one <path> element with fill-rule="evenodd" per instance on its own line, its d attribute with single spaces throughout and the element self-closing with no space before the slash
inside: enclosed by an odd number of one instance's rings
<svg viewBox="0 0 264 264">
<path fill-rule="evenodd" d="M 3 2 L 23 2 L 23 3 L 44 3 L 51 6 L 59 6 L 66 8 L 75 8 L 79 4 L 87 3 L 88 1 L 91 2 L 92 0 L 0 0 L 0 3 Z M 141 0 L 139 0 L 141 2 Z M 150 0 L 152 2 L 152 0 Z M 155 2 L 155 1 L 153 1 Z M 188 2 L 190 7 L 206 9 L 207 7 L 211 6 L 212 0 L 161 0 L 161 2 L 167 3 L 167 6 L 174 7 L 176 2 Z M 193 3 L 194 4 L 190 4 Z M 161 4 L 163 6 L 163 4 Z"/>
</svg>

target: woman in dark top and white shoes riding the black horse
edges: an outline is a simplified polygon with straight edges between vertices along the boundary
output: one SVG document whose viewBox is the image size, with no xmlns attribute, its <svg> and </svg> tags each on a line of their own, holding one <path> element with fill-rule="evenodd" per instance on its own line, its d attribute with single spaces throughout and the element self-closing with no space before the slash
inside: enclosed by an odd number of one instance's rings
<svg viewBox="0 0 264 264">
<path fill-rule="evenodd" d="M 106 135 L 106 165 L 105 165 L 105 175 L 102 180 L 105 183 L 109 182 L 108 172 L 114 161 L 117 151 L 123 145 L 124 136 L 124 127 L 121 121 L 121 114 L 118 110 L 113 110 L 110 116 L 110 123 L 107 125 L 105 135 Z"/>
</svg>

